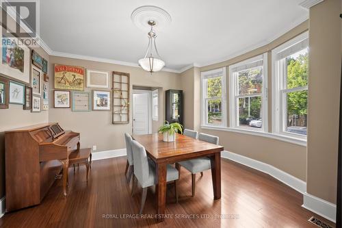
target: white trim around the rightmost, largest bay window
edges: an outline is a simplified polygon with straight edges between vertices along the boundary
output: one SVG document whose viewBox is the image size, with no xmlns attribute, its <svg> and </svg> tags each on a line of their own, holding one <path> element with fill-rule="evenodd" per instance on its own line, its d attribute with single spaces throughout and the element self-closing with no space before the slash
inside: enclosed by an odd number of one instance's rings
<svg viewBox="0 0 342 228">
<path fill-rule="evenodd" d="M 308 31 L 296 36 L 295 38 L 272 50 L 272 133 L 285 137 L 298 138 L 299 140 L 304 140 L 306 142 L 306 136 L 283 131 L 287 125 L 287 120 L 285 118 L 286 114 L 283 112 L 282 107 L 283 103 L 286 102 L 286 92 L 307 90 L 308 86 L 286 89 L 285 92 L 285 90 L 281 89 L 281 85 L 284 83 L 284 81 L 278 77 L 283 66 L 283 64 L 280 63 L 281 60 L 278 61 L 279 58 L 282 58 L 284 53 L 286 53 L 288 56 L 292 52 L 295 53 L 300 51 L 300 49 L 304 47 L 303 45 L 308 46 Z M 287 51 L 288 49 L 291 50 Z"/>
</svg>

